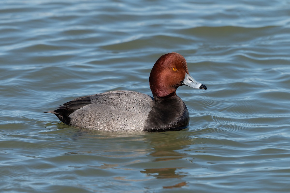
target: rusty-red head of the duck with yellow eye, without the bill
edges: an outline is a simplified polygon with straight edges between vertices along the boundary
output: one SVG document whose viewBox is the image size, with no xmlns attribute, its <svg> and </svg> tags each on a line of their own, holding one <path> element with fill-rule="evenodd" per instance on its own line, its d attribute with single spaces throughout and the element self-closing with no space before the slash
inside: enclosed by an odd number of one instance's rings
<svg viewBox="0 0 290 193">
<path fill-rule="evenodd" d="M 188 73 L 185 58 L 178 53 L 162 55 L 154 64 L 150 77 L 150 89 L 153 96 L 166 97 L 175 95 L 178 86 L 183 85 Z"/>
</svg>

